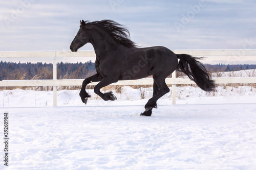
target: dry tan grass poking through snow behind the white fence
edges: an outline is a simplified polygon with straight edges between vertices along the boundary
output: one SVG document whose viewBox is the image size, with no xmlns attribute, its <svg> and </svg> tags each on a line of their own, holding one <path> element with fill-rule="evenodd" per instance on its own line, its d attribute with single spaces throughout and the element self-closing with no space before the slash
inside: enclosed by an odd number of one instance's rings
<svg viewBox="0 0 256 170">
<path fill-rule="evenodd" d="M 83 69 L 83 70 L 82 70 Z M 39 80 L 39 79 L 52 79 L 53 78 L 53 71 L 49 70 L 47 68 L 42 68 L 40 70 L 38 70 L 40 72 L 40 74 L 35 75 L 33 78 L 31 78 L 31 80 Z M 78 79 L 79 78 L 79 72 L 83 72 L 84 68 L 79 67 L 77 69 L 77 71 L 72 72 L 70 75 L 66 74 L 65 76 L 59 76 L 59 79 Z M 246 73 L 246 77 L 256 77 L 256 70 L 252 70 L 252 71 L 245 71 Z M 12 73 L 13 74 L 13 73 Z M 88 73 L 88 77 L 94 75 L 95 72 L 91 71 Z M 241 74 L 241 73 L 240 73 Z M 230 71 L 230 72 L 215 72 L 213 74 L 213 77 L 241 77 L 242 75 L 237 75 L 237 72 L 234 71 Z M 12 75 L 12 77 L 16 78 L 16 80 L 25 80 L 26 79 L 26 72 L 20 70 L 19 72 L 16 72 L 15 75 Z M 171 78 L 172 75 L 169 76 L 169 78 Z M 185 75 L 183 74 L 183 72 L 180 71 L 176 71 L 176 77 L 177 78 L 184 78 Z M 152 77 L 148 77 L 148 78 L 152 78 Z M 134 89 L 140 89 L 141 90 L 141 98 L 143 99 L 143 88 L 150 88 L 153 87 L 152 85 L 130 85 L 132 88 Z M 168 85 L 169 87 L 171 87 L 172 85 Z M 176 85 L 177 87 L 179 86 L 193 86 L 193 87 L 198 87 L 195 84 L 184 84 L 184 85 Z M 217 86 L 222 86 L 224 89 L 226 89 L 227 87 L 234 87 L 234 88 L 238 88 L 240 86 L 251 86 L 252 88 L 256 87 L 256 84 L 217 84 Z M 121 93 L 122 92 L 122 87 L 120 85 L 109 85 L 106 87 L 103 87 L 102 90 L 103 91 L 115 91 L 117 93 Z M 52 86 L 38 86 L 38 87 L 1 87 L 0 90 L 12 90 L 12 89 L 16 89 L 16 88 L 20 88 L 20 89 L 24 89 L 24 90 L 53 90 Z M 58 86 L 57 90 L 63 90 L 63 89 L 67 89 L 67 90 L 77 90 L 80 89 L 81 86 Z M 88 85 L 87 89 L 93 89 L 94 86 L 92 85 Z M 215 92 L 212 92 L 212 94 L 209 95 L 214 95 Z"/>
</svg>

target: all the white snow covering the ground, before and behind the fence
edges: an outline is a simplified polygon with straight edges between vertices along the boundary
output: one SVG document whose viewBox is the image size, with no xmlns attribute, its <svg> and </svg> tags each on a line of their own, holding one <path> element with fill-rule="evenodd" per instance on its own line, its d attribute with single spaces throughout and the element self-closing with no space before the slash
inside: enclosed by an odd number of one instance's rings
<svg viewBox="0 0 256 170">
<path fill-rule="evenodd" d="M 79 90 L 60 90 L 58 107 L 51 91 L 0 91 L 10 126 L 9 166 L 0 169 L 255 169 L 254 87 L 177 87 L 177 105 L 168 93 L 151 117 L 139 114 L 152 88 L 141 90 L 146 99 L 122 87 L 114 102 L 89 90 L 87 105 Z"/>
</svg>

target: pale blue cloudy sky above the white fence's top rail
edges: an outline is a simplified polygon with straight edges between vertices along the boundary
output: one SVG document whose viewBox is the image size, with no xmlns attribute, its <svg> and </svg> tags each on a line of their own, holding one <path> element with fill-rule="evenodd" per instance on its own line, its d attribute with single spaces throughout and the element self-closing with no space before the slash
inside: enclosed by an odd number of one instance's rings
<svg viewBox="0 0 256 170">
<path fill-rule="evenodd" d="M 69 50 L 81 19 L 115 20 L 142 47 L 255 49 L 255 9 L 250 0 L 1 1 L 0 51 Z M 245 45 L 248 41 L 252 43 Z M 87 44 L 80 50 L 93 47 Z"/>
</svg>

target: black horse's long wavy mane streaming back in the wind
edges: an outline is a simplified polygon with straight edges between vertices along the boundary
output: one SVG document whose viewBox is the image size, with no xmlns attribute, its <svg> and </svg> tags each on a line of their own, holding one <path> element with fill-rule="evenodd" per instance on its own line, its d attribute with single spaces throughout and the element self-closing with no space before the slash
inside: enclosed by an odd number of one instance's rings
<svg viewBox="0 0 256 170">
<path fill-rule="evenodd" d="M 130 39 L 129 30 L 127 30 L 123 25 L 113 21 L 113 20 L 101 20 L 101 21 L 85 21 L 86 24 L 98 25 L 104 28 L 117 43 L 120 43 L 129 48 L 138 47 L 135 42 Z"/>
</svg>

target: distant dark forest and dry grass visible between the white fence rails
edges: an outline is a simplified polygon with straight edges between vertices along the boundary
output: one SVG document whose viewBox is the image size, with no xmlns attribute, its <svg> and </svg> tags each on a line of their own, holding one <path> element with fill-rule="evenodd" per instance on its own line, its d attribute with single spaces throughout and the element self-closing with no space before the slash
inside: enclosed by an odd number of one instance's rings
<svg viewBox="0 0 256 170">
<path fill-rule="evenodd" d="M 225 65 L 206 64 L 210 72 L 238 71 L 244 69 L 255 69 L 256 65 Z M 57 63 L 57 79 L 85 79 L 96 73 L 95 63 Z M 13 63 L 0 62 L 0 80 L 38 80 L 53 79 L 53 64 L 47 63 Z"/>
</svg>

